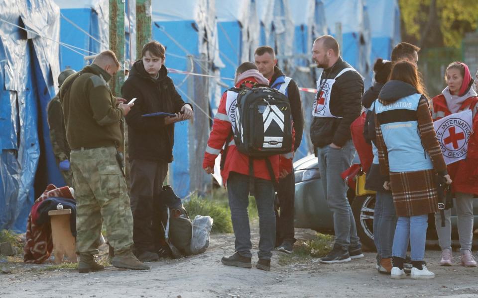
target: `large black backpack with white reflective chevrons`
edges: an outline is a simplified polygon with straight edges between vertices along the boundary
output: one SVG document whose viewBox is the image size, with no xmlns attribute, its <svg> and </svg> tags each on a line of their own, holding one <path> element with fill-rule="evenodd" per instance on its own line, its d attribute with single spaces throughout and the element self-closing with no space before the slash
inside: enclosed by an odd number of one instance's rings
<svg viewBox="0 0 478 298">
<path fill-rule="evenodd" d="M 292 151 L 289 99 L 268 86 L 232 88 L 238 92 L 234 143 L 249 157 L 268 157 Z"/>
</svg>

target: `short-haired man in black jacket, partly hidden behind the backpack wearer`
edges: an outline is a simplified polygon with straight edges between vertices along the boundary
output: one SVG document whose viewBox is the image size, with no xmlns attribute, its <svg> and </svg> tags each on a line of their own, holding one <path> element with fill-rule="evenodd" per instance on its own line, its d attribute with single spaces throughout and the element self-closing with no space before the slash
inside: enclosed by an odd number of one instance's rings
<svg viewBox="0 0 478 298">
<path fill-rule="evenodd" d="M 285 76 L 277 67 L 277 59 L 275 59 L 274 49 L 271 47 L 258 47 L 254 52 L 254 60 L 259 72 L 269 80 L 269 86 L 279 90 L 289 98 L 295 130 L 294 151 L 296 151 L 300 146 L 304 131 L 304 114 L 302 112 L 299 88 L 292 78 Z M 292 157 L 293 154 L 291 154 L 290 158 Z M 296 240 L 294 238 L 294 169 L 289 174 L 281 173 L 278 185 L 277 196 L 280 213 L 276 213 L 275 245 L 279 251 L 292 253 Z"/>
</svg>

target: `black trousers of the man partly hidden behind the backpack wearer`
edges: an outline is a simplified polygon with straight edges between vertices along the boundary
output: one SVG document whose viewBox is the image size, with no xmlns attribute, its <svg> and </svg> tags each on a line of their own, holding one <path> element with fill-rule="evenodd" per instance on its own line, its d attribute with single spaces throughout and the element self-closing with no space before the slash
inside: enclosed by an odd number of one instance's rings
<svg viewBox="0 0 478 298">
<path fill-rule="evenodd" d="M 276 236 L 275 246 L 283 241 L 295 242 L 294 238 L 294 203 L 295 203 L 295 180 L 294 170 L 283 179 L 279 179 L 277 191 L 278 210 L 276 208 Z"/>
</svg>

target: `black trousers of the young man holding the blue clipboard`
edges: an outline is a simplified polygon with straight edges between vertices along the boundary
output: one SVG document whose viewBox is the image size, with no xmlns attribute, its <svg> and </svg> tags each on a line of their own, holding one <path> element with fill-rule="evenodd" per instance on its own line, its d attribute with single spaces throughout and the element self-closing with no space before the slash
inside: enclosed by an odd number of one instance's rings
<svg viewBox="0 0 478 298">
<path fill-rule="evenodd" d="M 168 163 L 155 160 L 131 160 L 131 211 L 133 242 L 137 251 L 155 251 L 152 233 L 153 198 L 159 196 Z"/>
</svg>

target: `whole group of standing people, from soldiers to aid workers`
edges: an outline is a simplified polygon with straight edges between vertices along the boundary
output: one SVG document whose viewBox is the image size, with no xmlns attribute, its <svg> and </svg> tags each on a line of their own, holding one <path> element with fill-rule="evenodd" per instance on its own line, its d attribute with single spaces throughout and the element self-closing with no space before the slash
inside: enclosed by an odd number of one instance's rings
<svg viewBox="0 0 478 298">
<path fill-rule="evenodd" d="M 363 106 L 368 111 L 364 138 L 370 141 L 373 153 L 365 188 L 376 191 L 373 234 L 378 271 L 390 274 L 392 279 L 405 278 L 410 244 L 411 278 L 434 277 L 424 263 L 429 214 L 435 214 L 436 218 L 442 248 L 440 264 L 452 265 L 450 210 L 445 210 L 444 215 L 440 213 L 438 180 L 451 184 L 454 194 L 461 263 L 477 265 L 471 248 L 473 200 L 478 194 L 478 135 L 467 135 L 466 159 L 450 162 L 443 155 L 444 145 L 437 139 L 434 128 L 434 121 L 470 111 L 471 125 L 478 129 L 474 79 L 464 63 L 454 62 L 446 70 L 447 87 L 430 99 L 417 68 L 419 51 L 408 43 L 396 45 L 391 61 L 375 62 L 374 83 L 364 92 L 361 75 L 340 57 L 335 38 L 324 35 L 313 43 L 312 60 L 323 72 L 317 81 L 318 90 L 311 106 L 314 117 L 309 129 L 335 231 L 334 246 L 320 258 L 321 263 L 348 262 L 364 256 L 347 198 L 348 186 L 341 177 L 356 153 L 350 126 L 360 116 Z M 80 72 L 63 72 L 58 98 L 49 105 L 57 162 L 65 180 L 75 189 L 80 272 L 104 268 L 94 260 L 102 224 L 106 226 L 109 244 L 115 249 L 112 264 L 116 267 L 144 270 L 149 267 L 142 262 L 167 256 L 152 242 L 153 201 L 160 195 L 168 164 L 173 161 L 174 123 L 190 119 L 194 112 L 168 76 L 164 46 L 152 41 L 143 47 L 141 55 L 122 87 L 124 98 L 113 96 L 109 89 L 107 82 L 119 71 L 119 62 L 113 52 L 105 51 Z M 203 168 L 208 174 L 214 173 L 216 157 L 227 148 L 221 175 L 228 188 L 236 239 L 235 253 L 224 257 L 222 263 L 252 267 L 247 215 L 251 192 L 257 202 L 260 228 L 256 267 L 270 270 L 274 248 L 293 252 L 292 158 L 301 145 L 304 116 L 297 84 L 277 66 L 271 47 L 257 48 L 254 62 L 245 62 L 236 70 L 233 87 L 254 86 L 276 89 L 289 100 L 294 134 L 292 151 L 271 156 L 269 167 L 264 159 L 251 161 L 237 149 L 231 107 L 236 104 L 238 92 L 232 88 L 221 97 Z M 126 103 L 132 98 L 136 98 L 134 103 Z M 156 112 L 170 116 L 142 117 Z M 128 124 L 130 195 L 118 150 L 123 143 L 120 126 L 124 120 Z M 274 202 L 275 191 L 278 202 Z"/>
</svg>

